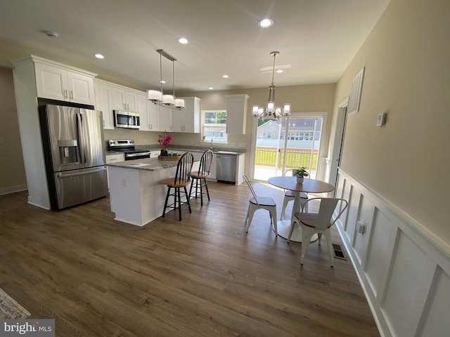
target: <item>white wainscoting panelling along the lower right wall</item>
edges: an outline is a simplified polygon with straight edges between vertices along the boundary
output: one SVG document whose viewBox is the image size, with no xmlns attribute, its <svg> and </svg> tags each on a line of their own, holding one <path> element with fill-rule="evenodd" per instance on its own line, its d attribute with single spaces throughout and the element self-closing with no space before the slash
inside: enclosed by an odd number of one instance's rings
<svg viewBox="0 0 450 337">
<path fill-rule="evenodd" d="M 450 336 L 450 246 L 342 169 L 335 196 L 349 201 L 336 226 L 381 336 Z"/>
</svg>

